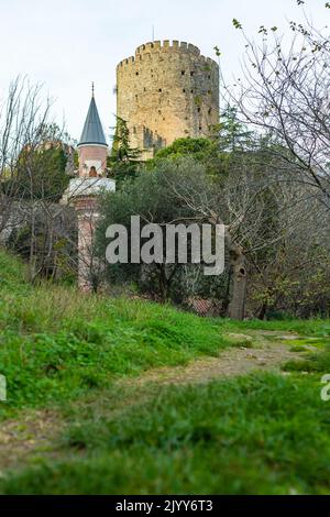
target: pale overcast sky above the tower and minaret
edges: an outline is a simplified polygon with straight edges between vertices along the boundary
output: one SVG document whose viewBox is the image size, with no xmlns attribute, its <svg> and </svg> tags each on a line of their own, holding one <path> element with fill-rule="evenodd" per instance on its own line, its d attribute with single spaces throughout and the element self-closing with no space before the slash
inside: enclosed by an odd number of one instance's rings
<svg viewBox="0 0 330 517">
<path fill-rule="evenodd" d="M 324 24 L 324 0 L 306 0 L 307 12 Z M 298 20 L 296 0 L 0 0 L 0 95 L 18 74 L 42 82 L 54 110 L 79 139 L 96 82 L 96 100 L 107 136 L 116 112 L 116 66 L 142 43 L 179 40 L 215 57 L 222 52 L 227 77 L 239 74 L 244 44 L 237 18 L 250 34 L 260 25 L 285 29 Z"/>
</svg>

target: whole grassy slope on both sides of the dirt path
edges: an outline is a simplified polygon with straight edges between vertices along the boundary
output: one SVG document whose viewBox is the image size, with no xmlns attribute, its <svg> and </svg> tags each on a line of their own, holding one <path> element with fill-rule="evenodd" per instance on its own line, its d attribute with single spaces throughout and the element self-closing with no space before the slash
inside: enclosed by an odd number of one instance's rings
<svg viewBox="0 0 330 517">
<path fill-rule="evenodd" d="M 51 458 L 36 454 L 2 479 L 2 493 L 330 493 L 330 403 L 320 399 L 329 352 L 301 359 L 309 375 L 288 364 L 288 376 L 141 393 L 111 383 L 216 354 L 228 344 L 223 331 L 296 330 L 321 339 L 329 322 L 216 321 L 31 288 L 3 254 L 0 272 L 0 372 L 9 384 L 2 415 L 56 402 L 67 421 Z"/>
</svg>

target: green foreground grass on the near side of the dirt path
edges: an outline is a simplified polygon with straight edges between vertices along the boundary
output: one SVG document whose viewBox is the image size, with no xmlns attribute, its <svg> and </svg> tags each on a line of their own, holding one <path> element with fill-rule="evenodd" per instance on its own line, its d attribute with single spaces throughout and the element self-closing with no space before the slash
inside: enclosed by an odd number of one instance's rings
<svg viewBox="0 0 330 517">
<path fill-rule="evenodd" d="M 2 493 L 330 493 L 330 414 L 316 380 L 163 387 L 135 405 L 112 396 L 117 413 L 77 414 L 57 459 L 9 474 Z"/>
</svg>

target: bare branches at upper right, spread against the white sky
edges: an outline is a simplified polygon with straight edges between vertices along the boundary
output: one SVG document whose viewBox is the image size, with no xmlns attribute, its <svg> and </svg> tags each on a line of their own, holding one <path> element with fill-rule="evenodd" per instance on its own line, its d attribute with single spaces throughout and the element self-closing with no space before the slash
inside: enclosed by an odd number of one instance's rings
<svg viewBox="0 0 330 517">
<path fill-rule="evenodd" d="M 306 19 L 305 24 L 289 22 L 285 36 L 276 26 L 261 26 L 261 40 L 251 40 L 237 20 L 234 25 L 242 31 L 245 54 L 241 77 L 231 86 L 224 81 L 230 102 L 242 121 L 268 138 L 267 163 L 287 173 L 282 180 L 315 187 L 329 209 L 329 29 L 319 31 Z"/>
</svg>

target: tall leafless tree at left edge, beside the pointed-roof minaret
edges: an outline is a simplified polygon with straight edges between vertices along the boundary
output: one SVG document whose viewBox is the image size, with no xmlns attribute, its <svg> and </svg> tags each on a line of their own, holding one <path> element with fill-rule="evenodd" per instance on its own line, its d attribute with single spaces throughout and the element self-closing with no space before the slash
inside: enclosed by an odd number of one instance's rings
<svg viewBox="0 0 330 517">
<path fill-rule="evenodd" d="M 53 123 L 51 106 L 40 85 L 18 77 L 0 109 L 0 241 L 6 243 L 13 232 L 26 229 L 31 280 L 59 254 L 58 242 L 72 234 L 64 208 L 47 194 L 50 170 L 43 152 L 67 138 Z"/>
</svg>

